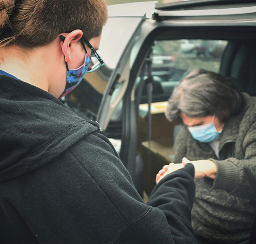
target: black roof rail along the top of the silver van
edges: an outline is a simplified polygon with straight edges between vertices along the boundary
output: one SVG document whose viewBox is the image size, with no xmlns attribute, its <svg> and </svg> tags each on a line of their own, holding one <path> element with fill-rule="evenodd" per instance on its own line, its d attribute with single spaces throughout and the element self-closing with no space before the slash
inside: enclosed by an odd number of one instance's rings
<svg viewBox="0 0 256 244">
<path fill-rule="evenodd" d="M 197 6 L 209 6 L 209 5 L 222 5 L 222 4 L 245 4 L 256 3 L 256 0 L 188 0 L 181 2 L 173 2 L 169 4 L 156 4 L 157 10 L 172 10 L 184 7 L 197 7 Z"/>
</svg>

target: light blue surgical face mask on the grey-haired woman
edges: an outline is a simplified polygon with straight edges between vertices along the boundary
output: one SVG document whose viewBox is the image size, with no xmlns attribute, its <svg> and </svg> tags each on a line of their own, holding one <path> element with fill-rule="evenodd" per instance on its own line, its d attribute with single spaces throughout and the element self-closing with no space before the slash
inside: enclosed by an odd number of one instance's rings
<svg viewBox="0 0 256 244">
<path fill-rule="evenodd" d="M 213 124 L 214 116 L 209 124 L 201 126 L 188 127 L 189 132 L 195 140 L 200 142 L 211 142 L 218 140 L 221 132 L 218 132 Z"/>
</svg>

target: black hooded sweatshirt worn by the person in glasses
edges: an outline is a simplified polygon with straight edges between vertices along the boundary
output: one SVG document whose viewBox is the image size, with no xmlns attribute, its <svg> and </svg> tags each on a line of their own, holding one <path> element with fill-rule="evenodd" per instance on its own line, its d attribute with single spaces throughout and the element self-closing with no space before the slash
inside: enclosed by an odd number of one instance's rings
<svg viewBox="0 0 256 244">
<path fill-rule="evenodd" d="M 98 124 L 48 92 L 1 75 L 0 123 L 0 242 L 195 242 L 193 165 L 145 204 Z"/>
</svg>

